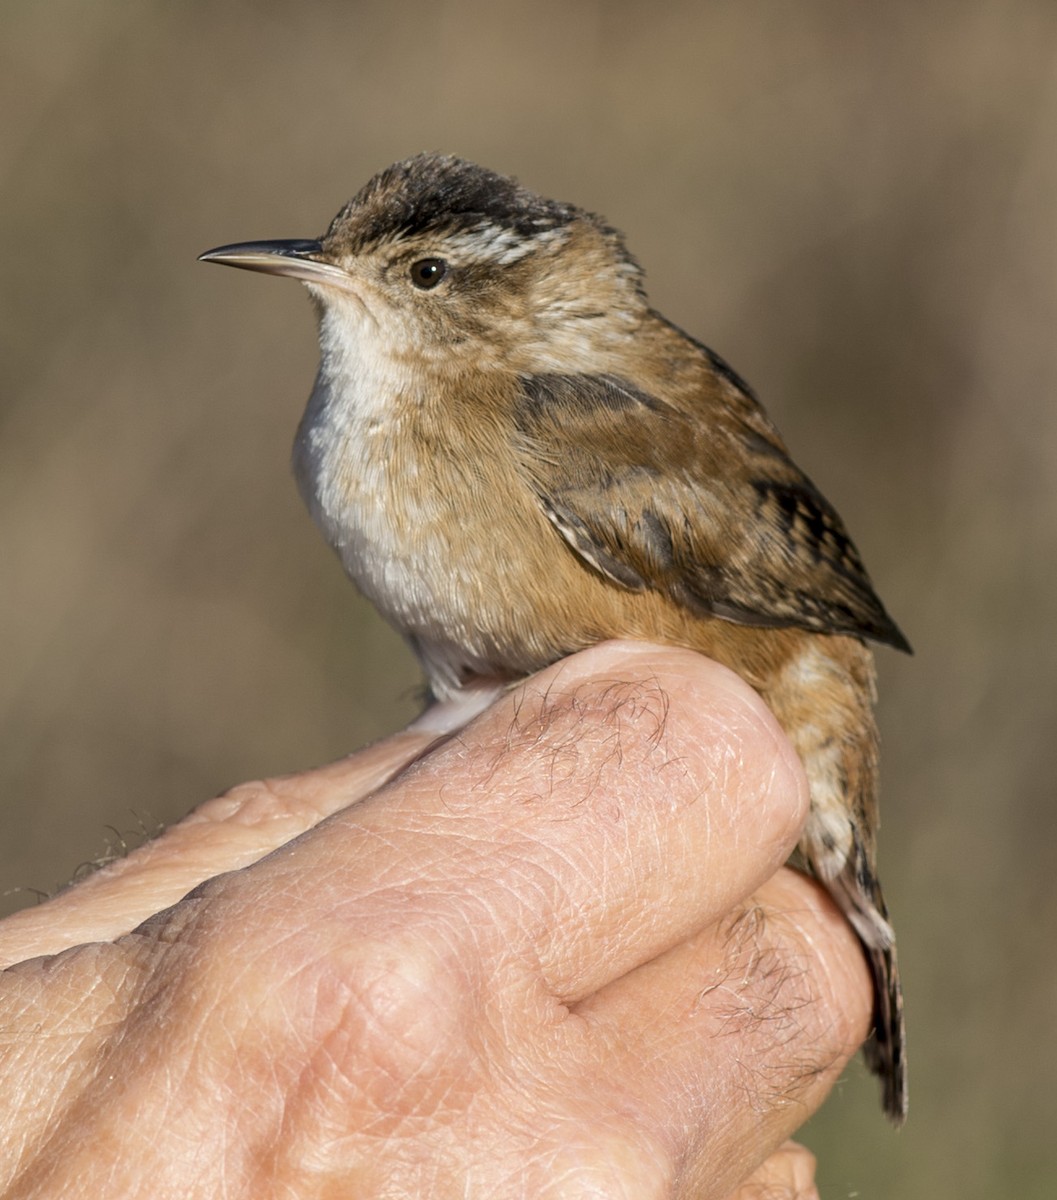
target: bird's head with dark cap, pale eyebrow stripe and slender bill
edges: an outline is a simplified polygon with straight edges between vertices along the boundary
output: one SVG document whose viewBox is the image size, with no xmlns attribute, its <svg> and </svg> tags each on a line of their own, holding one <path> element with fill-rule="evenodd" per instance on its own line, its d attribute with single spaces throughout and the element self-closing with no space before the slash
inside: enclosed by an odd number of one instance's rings
<svg viewBox="0 0 1057 1200">
<path fill-rule="evenodd" d="M 388 167 L 319 239 L 202 258 L 306 283 L 324 354 L 596 370 L 648 311 L 638 264 L 600 217 L 445 155 Z"/>
</svg>

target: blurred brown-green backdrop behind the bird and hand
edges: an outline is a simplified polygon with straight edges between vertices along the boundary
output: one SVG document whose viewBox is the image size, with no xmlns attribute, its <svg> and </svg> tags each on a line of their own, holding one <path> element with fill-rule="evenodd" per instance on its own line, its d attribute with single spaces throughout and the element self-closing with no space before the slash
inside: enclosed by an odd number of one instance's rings
<svg viewBox="0 0 1057 1200">
<path fill-rule="evenodd" d="M 627 233 L 915 646 L 879 654 L 912 1115 L 851 1068 L 823 1195 L 1052 1196 L 1055 68 L 1052 0 L 5 0 L 2 911 L 414 714 L 289 476 L 304 292 L 194 258 L 457 152 Z"/>
</svg>

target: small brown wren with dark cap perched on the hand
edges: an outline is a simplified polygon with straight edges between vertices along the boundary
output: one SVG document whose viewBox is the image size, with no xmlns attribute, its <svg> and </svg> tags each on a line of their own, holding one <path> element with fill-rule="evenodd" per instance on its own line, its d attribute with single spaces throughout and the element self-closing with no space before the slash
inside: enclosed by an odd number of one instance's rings
<svg viewBox="0 0 1057 1200">
<path fill-rule="evenodd" d="M 761 694 L 810 782 L 800 860 L 871 966 L 865 1055 L 901 1123 L 866 640 L 909 646 L 747 384 L 650 307 L 601 217 L 456 157 L 386 168 L 318 240 L 200 257 L 307 286 L 322 354 L 294 472 L 437 727 L 609 637 L 690 647 Z"/>
</svg>

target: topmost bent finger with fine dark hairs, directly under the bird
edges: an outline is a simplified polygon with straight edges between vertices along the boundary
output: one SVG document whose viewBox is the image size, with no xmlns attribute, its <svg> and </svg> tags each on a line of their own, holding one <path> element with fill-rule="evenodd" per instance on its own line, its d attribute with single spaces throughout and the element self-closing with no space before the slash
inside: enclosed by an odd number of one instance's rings
<svg viewBox="0 0 1057 1200">
<path fill-rule="evenodd" d="M 529 965 L 570 1003 L 750 895 L 806 803 L 792 748 L 737 676 L 608 643 L 306 836 L 317 899 L 334 887 L 348 914 L 356 894 L 362 932 L 452 961 L 484 953 L 497 972 Z M 299 857 L 270 864 L 292 887 Z"/>
</svg>

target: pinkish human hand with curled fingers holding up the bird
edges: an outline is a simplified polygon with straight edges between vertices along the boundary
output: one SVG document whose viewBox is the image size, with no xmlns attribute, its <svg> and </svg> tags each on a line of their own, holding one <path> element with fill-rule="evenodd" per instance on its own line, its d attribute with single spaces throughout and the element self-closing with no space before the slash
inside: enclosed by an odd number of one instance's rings
<svg viewBox="0 0 1057 1200">
<path fill-rule="evenodd" d="M 806 785 L 755 694 L 611 643 L 379 787 L 427 745 L 245 785 L 0 925 L 0 1194 L 813 1194 L 783 1142 L 870 985 L 781 865 Z"/>
</svg>

